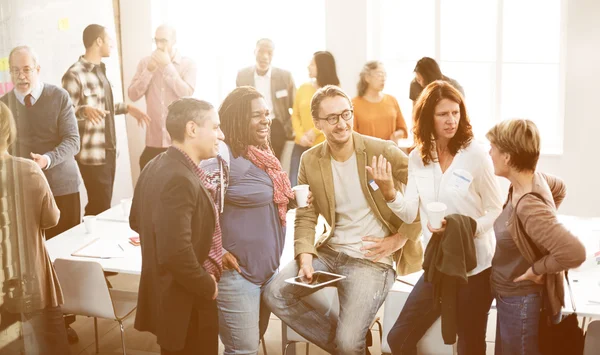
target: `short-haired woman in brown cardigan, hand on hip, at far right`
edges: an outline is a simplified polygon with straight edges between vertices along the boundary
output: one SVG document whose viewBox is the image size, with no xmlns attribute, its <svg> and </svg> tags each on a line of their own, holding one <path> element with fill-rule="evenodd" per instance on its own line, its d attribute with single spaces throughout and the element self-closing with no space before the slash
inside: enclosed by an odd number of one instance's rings
<svg viewBox="0 0 600 355">
<path fill-rule="evenodd" d="M 494 223 L 490 283 L 498 312 L 496 355 L 537 355 L 540 309 L 549 303 L 549 315 L 560 314 L 563 272 L 585 261 L 585 248 L 556 218 L 565 184 L 536 172 L 540 134 L 535 124 L 504 121 L 486 137 L 495 174 L 511 183 Z"/>
</svg>

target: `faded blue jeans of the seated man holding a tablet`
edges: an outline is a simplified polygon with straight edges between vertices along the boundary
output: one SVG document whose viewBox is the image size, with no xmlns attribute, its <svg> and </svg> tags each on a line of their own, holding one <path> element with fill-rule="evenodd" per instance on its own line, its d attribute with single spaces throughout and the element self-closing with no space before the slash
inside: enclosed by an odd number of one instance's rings
<svg viewBox="0 0 600 355">
<path fill-rule="evenodd" d="M 369 326 L 394 284 L 396 273 L 391 266 L 352 258 L 327 245 L 319 248 L 318 254 L 313 259 L 315 271 L 346 276 L 332 284 L 337 287 L 340 302 L 337 324 L 302 299 L 317 290 L 285 282 L 298 275 L 295 261 L 267 286 L 263 298 L 279 319 L 321 349 L 331 354 L 364 355 Z"/>
</svg>

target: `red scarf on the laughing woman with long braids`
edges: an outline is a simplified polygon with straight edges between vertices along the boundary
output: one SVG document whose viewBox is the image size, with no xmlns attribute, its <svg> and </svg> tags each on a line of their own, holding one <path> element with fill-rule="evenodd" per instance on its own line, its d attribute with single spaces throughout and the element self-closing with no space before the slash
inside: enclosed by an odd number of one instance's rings
<svg viewBox="0 0 600 355">
<path fill-rule="evenodd" d="M 289 177 L 283 171 L 281 163 L 273 154 L 271 148 L 257 148 L 249 145 L 246 149 L 246 158 L 259 169 L 264 170 L 273 181 L 273 202 L 279 206 L 279 219 L 281 225 L 285 227 L 287 205 L 290 200 L 294 199 Z"/>
</svg>

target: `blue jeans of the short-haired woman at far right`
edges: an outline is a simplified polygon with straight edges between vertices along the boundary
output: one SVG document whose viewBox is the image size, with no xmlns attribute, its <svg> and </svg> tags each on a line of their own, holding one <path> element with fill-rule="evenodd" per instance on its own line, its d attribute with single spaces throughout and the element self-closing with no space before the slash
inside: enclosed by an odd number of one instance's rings
<svg viewBox="0 0 600 355">
<path fill-rule="evenodd" d="M 496 295 L 495 355 L 539 355 L 538 330 L 542 297 Z"/>
</svg>

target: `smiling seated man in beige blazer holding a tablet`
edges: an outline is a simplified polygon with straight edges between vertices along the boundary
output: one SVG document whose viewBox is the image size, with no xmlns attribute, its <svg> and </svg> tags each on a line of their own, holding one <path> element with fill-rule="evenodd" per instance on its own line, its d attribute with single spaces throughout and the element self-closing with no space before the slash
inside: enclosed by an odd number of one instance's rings
<svg viewBox="0 0 600 355">
<path fill-rule="evenodd" d="M 407 182 L 408 157 L 391 141 L 354 133 L 351 100 L 336 86 L 317 90 L 311 114 L 326 137 L 300 162 L 298 184 L 309 185 L 312 203 L 296 210 L 296 260 L 267 286 L 264 301 L 279 319 L 325 351 L 362 355 L 369 326 L 396 274 L 421 269 L 421 227 L 403 223 L 392 204 Z M 393 176 L 391 189 L 374 183 L 383 171 Z M 319 215 L 330 227 L 315 245 Z M 315 271 L 346 276 L 332 284 L 340 302 L 337 319 L 301 301 L 317 289 L 285 282 L 296 276 L 311 280 Z"/>
</svg>

